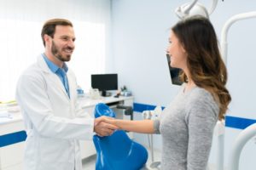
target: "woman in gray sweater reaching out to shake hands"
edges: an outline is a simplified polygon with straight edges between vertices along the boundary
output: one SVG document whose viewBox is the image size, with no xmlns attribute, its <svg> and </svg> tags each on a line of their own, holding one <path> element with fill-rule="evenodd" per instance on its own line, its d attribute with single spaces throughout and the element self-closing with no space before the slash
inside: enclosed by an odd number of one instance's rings
<svg viewBox="0 0 256 170">
<path fill-rule="evenodd" d="M 171 66 L 182 70 L 177 97 L 157 120 L 104 122 L 131 132 L 160 133 L 162 170 L 205 170 L 213 128 L 224 119 L 231 97 L 227 71 L 209 20 L 194 16 L 172 27 L 166 53 Z"/>
</svg>

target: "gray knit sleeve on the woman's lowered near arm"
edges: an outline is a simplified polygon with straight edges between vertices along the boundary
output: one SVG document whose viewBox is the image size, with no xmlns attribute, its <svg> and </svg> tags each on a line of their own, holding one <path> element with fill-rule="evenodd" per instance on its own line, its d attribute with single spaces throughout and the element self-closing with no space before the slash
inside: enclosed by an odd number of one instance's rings
<svg viewBox="0 0 256 170">
<path fill-rule="evenodd" d="M 186 118 L 189 130 L 188 170 L 206 170 L 212 146 L 212 133 L 218 120 L 218 105 L 209 93 L 195 96 Z"/>
</svg>

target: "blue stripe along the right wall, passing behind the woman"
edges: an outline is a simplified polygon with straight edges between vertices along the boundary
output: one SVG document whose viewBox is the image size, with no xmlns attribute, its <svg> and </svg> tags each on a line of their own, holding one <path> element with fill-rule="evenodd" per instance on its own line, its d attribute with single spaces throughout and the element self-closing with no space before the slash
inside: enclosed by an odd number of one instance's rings
<svg viewBox="0 0 256 170">
<path fill-rule="evenodd" d="M 137 111 L 137 112 L 150 111 L 150 110 L 154 110 L 154 108 L 155 108 L 155 105 L 133 103 L 133 111 Z M 254 119 L 247 119 L 247 118 L 235 117 L 235 116 L 226 116 L 225 126 L 238 128 L 238 129 L 245 129 L 246 127 L 252 125 L 255 122 L 256 120 Z"/>
</svg>

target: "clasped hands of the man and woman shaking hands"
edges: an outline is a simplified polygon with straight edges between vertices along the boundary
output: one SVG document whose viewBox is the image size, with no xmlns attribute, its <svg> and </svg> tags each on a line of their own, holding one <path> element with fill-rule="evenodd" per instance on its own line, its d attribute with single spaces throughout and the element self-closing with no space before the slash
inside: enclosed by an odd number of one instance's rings
<svg viewBox="0 0 256 170">
<path fill-rule="evenodd" d="M 100 116 L 97 117 L 94 121 L 94 132 L 98 136 L 109 136 L 119 127 L 113 125 L 113 117 Z"/>
</svg>

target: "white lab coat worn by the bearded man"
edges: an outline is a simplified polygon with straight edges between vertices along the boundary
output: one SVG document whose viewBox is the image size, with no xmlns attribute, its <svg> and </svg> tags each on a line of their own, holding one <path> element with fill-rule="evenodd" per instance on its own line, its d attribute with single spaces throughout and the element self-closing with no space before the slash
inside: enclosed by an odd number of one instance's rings
<svg viewBox="0 0 256 170">
<path fill-rule="evenodd" d="M 79 139 L 91 139 L 94 118 L 81 113 L 77 83 L 67 71 L 70 99 L 42 55 L 20 77 L 16 99 L 26 128 L 25 170 L 82 170 Z"/>
</svg>

